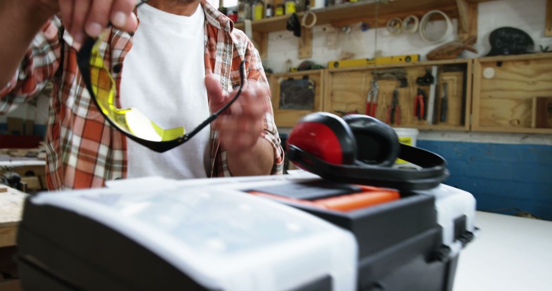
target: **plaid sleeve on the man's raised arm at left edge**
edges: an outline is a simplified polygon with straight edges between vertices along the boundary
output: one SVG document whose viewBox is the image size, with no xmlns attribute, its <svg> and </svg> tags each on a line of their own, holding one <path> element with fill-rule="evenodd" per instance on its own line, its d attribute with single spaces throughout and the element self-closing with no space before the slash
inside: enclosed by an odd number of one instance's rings
<svg viewBox="0 0 552 291">
<path fill-rule="evenodd" d="M 60 64 L 61 22 L 57 17 L 44 24 L 8 84 L 0 84 L 0 115 L 14 110 L 40 93 Z"/>
</svg>

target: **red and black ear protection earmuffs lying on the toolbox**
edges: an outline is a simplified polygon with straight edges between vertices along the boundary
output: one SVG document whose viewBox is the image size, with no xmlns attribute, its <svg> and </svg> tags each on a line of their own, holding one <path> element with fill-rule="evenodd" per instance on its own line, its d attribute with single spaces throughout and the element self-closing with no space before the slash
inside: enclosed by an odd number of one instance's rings
<svg viewBox="0 0 552 291">
<path fill-rule="evenodd" d="M 449 176 L 442 157 L 400 144 L 389 125 L 366 115 L 303 117 L 289 134 L 288 157 L 327 180 L 401 191 L 434 188 Z M 397 158 L 421 169 L 391 168 Z"/>
</svg>

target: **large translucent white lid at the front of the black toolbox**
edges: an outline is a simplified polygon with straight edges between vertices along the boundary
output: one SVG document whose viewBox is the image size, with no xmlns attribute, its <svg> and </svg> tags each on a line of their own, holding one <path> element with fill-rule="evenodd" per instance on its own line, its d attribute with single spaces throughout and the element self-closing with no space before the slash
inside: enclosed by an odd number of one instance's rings
<svg viewBox="0 0 552 291">
<path fill-rule="evenodd" d="M 358 246 L 349 231 L 236 190 L 162 180 L 41 193 L 30 203 L 102 223 L 209 289 L 293 289 L 328 275 L 333 288 L 355 288 Z"/>
</svg>

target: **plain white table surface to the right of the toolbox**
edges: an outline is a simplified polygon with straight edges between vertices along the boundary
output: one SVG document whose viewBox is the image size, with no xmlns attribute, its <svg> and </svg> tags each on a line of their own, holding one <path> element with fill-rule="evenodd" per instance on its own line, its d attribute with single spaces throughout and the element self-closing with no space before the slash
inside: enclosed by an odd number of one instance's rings
<svg viewBox="0 0 552 291">
<path fill-rule="evenodd" d="M 552 222 L 477 212 L 453 291 L 551 291 Z"/>
</svg>

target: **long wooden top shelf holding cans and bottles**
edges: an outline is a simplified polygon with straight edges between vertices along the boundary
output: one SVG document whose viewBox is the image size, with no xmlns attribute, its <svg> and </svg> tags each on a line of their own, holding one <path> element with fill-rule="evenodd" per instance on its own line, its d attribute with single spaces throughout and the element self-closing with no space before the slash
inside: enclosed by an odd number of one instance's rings
<svg viewBox="0 0 552 291">
<path fill-rule="evenodd" d="M 467 0 L 466 2 L 479 3 L 487 1 L 491 0 Z M 375 0 L 349 2 L 331 7 L 312 9 L 312 12 L 316 13 L 316 25 L 331 23 L 336 26 L 342 26 L 358 21 L 374 25 L 375 3 Z M 434 9 L 443 10 L 450 18 L 458 17 L 457 0 L 395 0 L 387 4 L 379 4 L 378 26 L 385 25 L 389 18 L 392 17 L 406 17 L 412 14 L 422 17 L 423 14 Z M 297 13 L 299 18 L 303 14 L 303 12 Z M 261 33 L 285 30 L 288 18 L 289 15 L 283 15 L 252 21 L 252 29 Z M 244 28 L 243 23 L 235 23 L 235 27 L 241 30 Z"/>
</svg>

